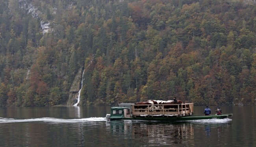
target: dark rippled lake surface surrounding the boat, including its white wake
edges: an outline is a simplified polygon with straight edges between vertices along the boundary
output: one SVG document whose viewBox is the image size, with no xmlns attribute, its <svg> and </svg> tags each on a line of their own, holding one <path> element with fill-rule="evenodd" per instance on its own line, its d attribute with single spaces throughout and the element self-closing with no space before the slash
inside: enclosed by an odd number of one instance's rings
<svg viewBox="0 0 256 147">
<path fill-rule="evenodd" d="M 0 108 L 0 147 L 255 147 L 256 107 L 221 109 L 234 116 L 173 123 L 106 122 L 110 107 Z M 194 107 L 195 114 L 203 110 Z"/>
</svg>

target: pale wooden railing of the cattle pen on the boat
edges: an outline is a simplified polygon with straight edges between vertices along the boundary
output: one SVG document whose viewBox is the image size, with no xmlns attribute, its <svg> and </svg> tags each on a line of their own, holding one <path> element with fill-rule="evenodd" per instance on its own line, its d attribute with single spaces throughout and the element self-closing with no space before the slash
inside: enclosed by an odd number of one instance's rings
<svg viewBox="0 0 256 147">
<path fill-rule="evenodd" d="M 147 106 L 145 109 L 135 107 Z M 167 108 L 168 107 L 168 108 Z M 156 105 L 132 105 L 133 116 L 139 115 L 177 115 L 185 116 L 193 113 L 193 103 L 183 104 L 156 104 Z"/>
</svg>

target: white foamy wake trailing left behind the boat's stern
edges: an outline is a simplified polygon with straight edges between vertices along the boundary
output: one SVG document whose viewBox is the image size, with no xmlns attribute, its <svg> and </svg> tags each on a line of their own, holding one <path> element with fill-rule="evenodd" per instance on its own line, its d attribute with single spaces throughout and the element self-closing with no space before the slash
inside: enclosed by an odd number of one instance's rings
<svg viewBox="0 0 256 147">
<path fill-rule="evenodd" d="M 15 123 L 15 122 L 56 122 L 56 123 L 83 123 L 83 122 L 102 122 L 106 121 L 103 117 L 91 117 L 81 119 L 60 119 L 60 118 L 31 118 L 17 120 L 13 118 L 0 118 L 0 123 Z"/>
</svg>

